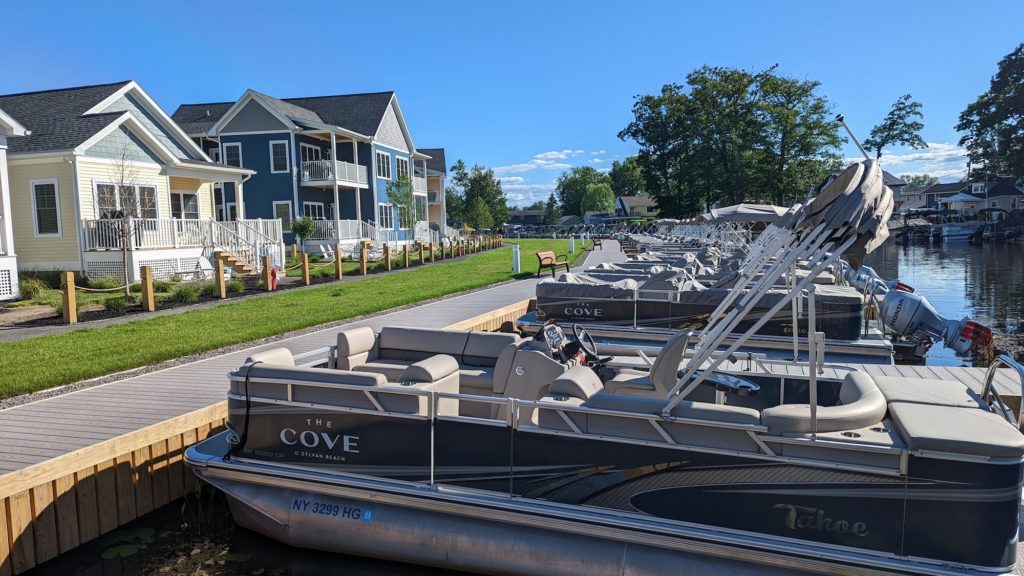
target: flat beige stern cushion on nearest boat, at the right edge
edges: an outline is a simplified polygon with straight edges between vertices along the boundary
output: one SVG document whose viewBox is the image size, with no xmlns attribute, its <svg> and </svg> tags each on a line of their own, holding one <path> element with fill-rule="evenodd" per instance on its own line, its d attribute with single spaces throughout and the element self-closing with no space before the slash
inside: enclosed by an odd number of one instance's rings
<svg viewBox="0 0 1024 576">
<path fill-rule="evenodd" d="M 1024 435 L 992 412 L 894 402 L 889 415 L 910 450 L 992 458 L 1024 456 Z"/>
</svg>

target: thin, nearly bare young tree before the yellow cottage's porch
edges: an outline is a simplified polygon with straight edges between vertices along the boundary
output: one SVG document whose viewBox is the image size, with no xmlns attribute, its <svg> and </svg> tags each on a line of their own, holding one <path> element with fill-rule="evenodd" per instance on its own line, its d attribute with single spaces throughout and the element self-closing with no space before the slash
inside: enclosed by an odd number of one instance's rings
<svg viewBox="0 0 1024 576">
<path fill-rule="evenodd" d="M 131 298 L 131 264 L 129 251 L 140 245 L 146 228 L 157 224 L 157 190 L 138 184 L 141 160 L 134 149 L 125 145 L 111 165 L 112 183 L 96 186 L 96 211 L 104 233 L 113 237 L 121 248 L 121 280 L 125 284 L 125 298 Z"/>
</svg>

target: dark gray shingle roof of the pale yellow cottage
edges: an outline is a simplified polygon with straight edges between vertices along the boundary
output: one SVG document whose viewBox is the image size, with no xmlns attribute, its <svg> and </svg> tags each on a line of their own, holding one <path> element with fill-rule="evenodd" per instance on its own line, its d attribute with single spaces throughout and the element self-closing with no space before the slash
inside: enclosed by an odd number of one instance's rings
<svg viewBox="0 0 1024 576">
<path fill-rule="evenodd" d="M 32 133 L 13 138 L 10 154 L 72 150 L 120 118 L 123 112 L 82 116 L 129 81 L 0 95 L 0 108 Z"/>
</svg>

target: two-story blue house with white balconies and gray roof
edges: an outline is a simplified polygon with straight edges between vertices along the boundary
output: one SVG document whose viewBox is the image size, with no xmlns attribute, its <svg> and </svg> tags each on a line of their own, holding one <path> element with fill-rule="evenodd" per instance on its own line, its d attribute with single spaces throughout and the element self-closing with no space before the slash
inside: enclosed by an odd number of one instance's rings
<svg viewBox="0 0 1024 576">
<path fill-rule="evenodd" d="M 443 181 L 428 191 L 431 157 L 417 151 L 394 92 L 279 99 L 250 89 L 233 102 L 182 105 L 173 119 L 214 160 L 256 171 L 241 194 L 216 191 L 218 218 L 281 218 L 289 242 L 299 216 L 316 220 L 307 243 L 438 238 L 428 193 L 443 194 Z M 416 213 L 388 201 L 402 175 Z"/>
</svg>

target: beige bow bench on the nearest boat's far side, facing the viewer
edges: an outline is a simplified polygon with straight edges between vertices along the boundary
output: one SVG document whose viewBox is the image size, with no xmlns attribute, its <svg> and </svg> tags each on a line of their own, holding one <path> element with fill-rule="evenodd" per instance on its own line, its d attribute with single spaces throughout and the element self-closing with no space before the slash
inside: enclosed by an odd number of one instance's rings
<svg viewBox="0 0 1024 576">
<path fill-rule="evenodd" d="M 386 326 L 380 333 L 370 327 L 338 333 L 337 367 L 383 374 L 388 381 L 400 381 L 409 366 L 433 358 L 453 358 L 459 368 L 461 392 L 489 396 L 504 390 L 517 334 L 465 332 L 432 328 Z"/>
</svg>

